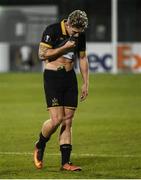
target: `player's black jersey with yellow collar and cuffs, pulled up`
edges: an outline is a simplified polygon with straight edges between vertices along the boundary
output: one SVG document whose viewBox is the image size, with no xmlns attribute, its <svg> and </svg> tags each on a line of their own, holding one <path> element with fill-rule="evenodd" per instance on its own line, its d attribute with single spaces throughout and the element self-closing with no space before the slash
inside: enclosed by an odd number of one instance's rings
<svg viewBox="0 0 141 180">
<path fill-rule="evenodd" d="M 46 47 L 52 49 L 64 45 L 70 39 L 70 36 L 65 29 L 64 23 L 65 20 L 62 20 L 59 23 L 47 26 L 45 31 L 43 32 L 40 44 L 43 44 Z M 64 57 L 71 59 L 72 61 L 75 60 L 76 56 L 82 57 L 86 53 L 85 33 L 82 32 L 78 37 L 75 37 L 75 42 L 75 48 L 71 49 L 69 52 L 63 55 Z"/>
</svg>

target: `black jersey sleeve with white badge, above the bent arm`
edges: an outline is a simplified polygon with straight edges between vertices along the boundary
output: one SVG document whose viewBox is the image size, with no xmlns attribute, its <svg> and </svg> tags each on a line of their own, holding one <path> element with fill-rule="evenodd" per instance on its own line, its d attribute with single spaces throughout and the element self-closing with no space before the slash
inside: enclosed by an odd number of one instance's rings
<svg viewBox="0 0 141 180">
<path fill-rule="evenodd" d="M 40 44 L 45 45 L 48 48 L 52 48 L 54 44 L 54 29 L 53 26 L 49 26 L 45 29 L 42 35 Z"/>
</svg>

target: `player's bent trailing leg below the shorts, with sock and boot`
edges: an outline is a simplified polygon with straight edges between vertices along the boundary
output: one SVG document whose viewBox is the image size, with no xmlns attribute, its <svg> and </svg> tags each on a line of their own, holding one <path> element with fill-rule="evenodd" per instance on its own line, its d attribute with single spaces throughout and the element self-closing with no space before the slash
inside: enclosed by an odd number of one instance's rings
<svg viewBox="0 0 141 180">
<path fill-rule="evenodd" d="M 39 140 L 35 145 L 34 164 L 38 169 L 41 169 L 43 166 L 43 155 L 46 143 L 63 120 L 64 109 L 63 107 L 51 107 L 49 108 L 49 114 L 50 119 L 44 122 Z"/>
</svg>

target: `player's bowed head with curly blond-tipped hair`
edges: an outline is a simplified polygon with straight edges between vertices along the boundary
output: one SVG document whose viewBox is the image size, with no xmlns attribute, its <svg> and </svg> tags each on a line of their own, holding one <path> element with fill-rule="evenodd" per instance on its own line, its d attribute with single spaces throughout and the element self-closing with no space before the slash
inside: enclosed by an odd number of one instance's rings
<svg viewBox="0 0 141 180">
<path fill-rule="evenodd" d="M 73 28 L 74 34 L 75 31 L 80 33 L 84 31 L 88 26 L 87 14 L 81 10 L 75 10 L 69 14 L 67 19 L 68 26 Z M 73 32 L 71 33 L 73 35 Z"/>
</svg>

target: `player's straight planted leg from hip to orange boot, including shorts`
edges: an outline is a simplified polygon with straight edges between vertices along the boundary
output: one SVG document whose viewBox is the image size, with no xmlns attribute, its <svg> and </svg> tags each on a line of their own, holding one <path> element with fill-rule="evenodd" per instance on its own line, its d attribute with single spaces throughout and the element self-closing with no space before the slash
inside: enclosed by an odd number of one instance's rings
<svg viewBox="0 0 141 180">
<path fill-rule="evenodd" d="M 60 131 L 60 150 L 62 155 L 62 169 L 81 170 L 80 167 L 69 163 L 72 150 L 72 120 L 78 103 L 78 85 L 75 72 L 73 70 L 66 73 L 67 91 L 64 94 L 65 116 L 61 124 Z"/>
</svg>

